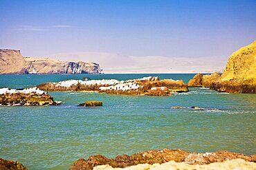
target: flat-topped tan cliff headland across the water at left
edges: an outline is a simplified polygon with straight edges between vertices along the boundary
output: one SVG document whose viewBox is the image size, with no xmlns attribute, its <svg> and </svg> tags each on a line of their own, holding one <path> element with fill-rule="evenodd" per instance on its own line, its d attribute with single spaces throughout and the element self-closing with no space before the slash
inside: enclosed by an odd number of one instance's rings
<svg viewBox="0 0 256 170">
<path fill-rule="evenodd" d="M 97 63 L 59 61 L 48 58 L 30 58 L 19 50 L 0 49 L 0 74 L 100 74 Z"/>
</svg>

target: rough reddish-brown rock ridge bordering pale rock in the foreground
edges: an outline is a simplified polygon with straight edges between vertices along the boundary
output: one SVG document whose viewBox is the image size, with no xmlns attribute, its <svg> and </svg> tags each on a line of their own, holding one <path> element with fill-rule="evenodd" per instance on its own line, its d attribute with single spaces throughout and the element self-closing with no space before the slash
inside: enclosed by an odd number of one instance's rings
<svg viewBox="0 0 256 170">
<path fill-rule="evenodd" d="M 163 149 L 161 151 L 143 151 L 131 156 L 121 155 L 116 156 L 116 158 L 113 159 L 109 159 L 101 155 L 90 156 L 87 160 L 81 158 L 74 162 L 70 170 L 91 170 L 93 167 L 97 167 L 102 164 L 109 164 L 114 168 L 124 168 L 136 164 L 163 164 L 170 161 L 184 162 L 186 164 L 210 164 L 212 162 L 223 162 L 237 158 L 248 162 L 256 161 L 256 155 L 246 156 L 241 153 L 233 153 L 229 151 L 189 153 L 188 151 L 183 151 L 181 149 Z"/>
</svg>

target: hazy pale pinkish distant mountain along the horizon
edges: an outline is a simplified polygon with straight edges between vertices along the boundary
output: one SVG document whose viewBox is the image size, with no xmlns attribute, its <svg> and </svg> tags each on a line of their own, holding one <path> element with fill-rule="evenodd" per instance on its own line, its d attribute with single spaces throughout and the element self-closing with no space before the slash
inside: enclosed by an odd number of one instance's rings
<svg viewBox="0 0 256 170">
<path fill-rule="evenodd" d="M 222 72 L 228 61 L 228 56 L 189 58 L 130 56 L 107 52 L 70 52 L 50 57 L 64 61 L 98 61 L 104 67 L 104 73 Z"/>
</svg>

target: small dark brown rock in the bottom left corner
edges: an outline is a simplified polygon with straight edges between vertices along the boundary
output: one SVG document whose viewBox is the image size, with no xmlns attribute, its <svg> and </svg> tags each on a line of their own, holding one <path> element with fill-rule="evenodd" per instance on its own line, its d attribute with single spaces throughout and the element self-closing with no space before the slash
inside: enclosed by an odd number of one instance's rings
<svg viewBox="0 0 256 170">
<path fill-rule="evenodd" d="M 0 158 L 0 169 L 1 170 L 28 170 L 23 164 L 15 160 L 4 160 Z"/>
</svg>

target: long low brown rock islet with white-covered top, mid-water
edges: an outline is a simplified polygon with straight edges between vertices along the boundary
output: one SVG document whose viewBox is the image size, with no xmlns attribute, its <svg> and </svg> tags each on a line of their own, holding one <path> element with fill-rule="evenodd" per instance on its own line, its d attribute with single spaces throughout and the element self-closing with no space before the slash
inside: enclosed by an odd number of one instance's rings
<svg viewBox="0 0 256 170">
<path fill-rule="evenodd" d="M 96 91 L 108 94 L 131 94 L 148 96 L 168 96 L 172 92 L 188 92 L 188 86 L 183 81 L 158 77 L 144 77 L 129 81 L 91 80 L 91 81 L 60 81 L 58 83 L 42 83 L 37 85 L 46 91 Z"/>
</svg>

